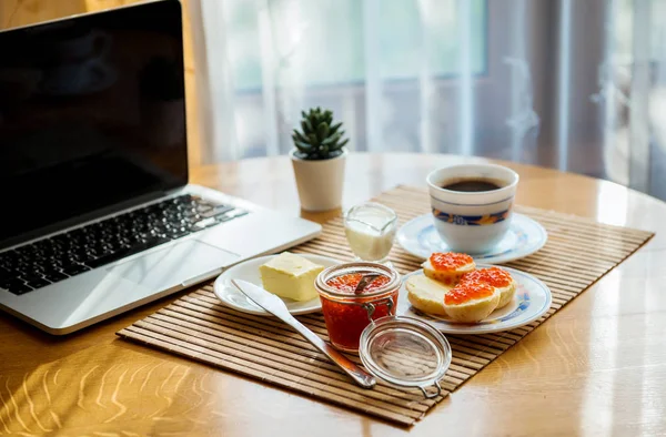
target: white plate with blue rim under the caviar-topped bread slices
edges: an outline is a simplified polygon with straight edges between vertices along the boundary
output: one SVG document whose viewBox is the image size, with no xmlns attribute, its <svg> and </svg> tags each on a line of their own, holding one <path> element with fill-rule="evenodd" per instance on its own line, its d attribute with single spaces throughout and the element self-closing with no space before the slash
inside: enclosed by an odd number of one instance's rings
<svg viewBox="0 0 666 437">
<path fill-rule="evenodd" d="M 492 265 L 477 265 L 478 268 Z M 551 307 L 553 297 L 546 284 L 525 272 L 502 266 L 516 282 L 516 294 L 505 307 L 494 311 L 487 318 L 474 323 L 457 323 L 446 316 L 431 316 L 414 308 L 407 299 L 405 282 L 410 276 L 422 275 L 416 271 L 403 276 L 403 285 L 397 298 L 397 314 L 427 322 L 445 334 L 488 334 L 509 331 L 526 325 L 539 318 Z"/>
</svg>

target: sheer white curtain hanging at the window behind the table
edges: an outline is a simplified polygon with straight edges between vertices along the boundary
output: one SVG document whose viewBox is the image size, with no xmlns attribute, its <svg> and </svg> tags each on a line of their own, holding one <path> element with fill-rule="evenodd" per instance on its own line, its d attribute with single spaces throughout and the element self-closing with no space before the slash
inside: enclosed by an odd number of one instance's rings
<svg viewBox="0 0 666 437">
<path fill-rule="evenodd" d="M 325 106 L 353 151 L 481 155 L 666 199 L 666 0 L 191 0 L 202 159 L 284 154 Z"/>
</svg>

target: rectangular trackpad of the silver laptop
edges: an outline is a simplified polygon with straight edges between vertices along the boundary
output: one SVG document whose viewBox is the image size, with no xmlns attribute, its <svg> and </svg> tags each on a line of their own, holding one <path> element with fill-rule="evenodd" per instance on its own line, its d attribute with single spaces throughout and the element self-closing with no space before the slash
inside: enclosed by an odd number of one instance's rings
<svg viewBox="0 0 666 437">
<path fill-rule="evenodd" d="M 240 255 L 189 240 L 109 268 L 152 289 L 165 289 L 235 262 Z"/>
</svg>

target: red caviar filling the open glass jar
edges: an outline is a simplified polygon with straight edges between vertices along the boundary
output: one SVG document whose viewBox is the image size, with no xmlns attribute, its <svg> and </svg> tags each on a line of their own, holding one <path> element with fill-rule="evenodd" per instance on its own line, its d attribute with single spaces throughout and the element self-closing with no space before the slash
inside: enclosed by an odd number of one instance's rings
<svg viewBox="0 0 666 437">
<path fill-rule="evenodd" d="M 363 276 L 369 274 L 379 274 L 379 276 L 367 282 L 362 292 L 356 293 L 356 286 Z M 367 309 L 363 304 L 374 306 L 373 319 L 395 315 L 400 281 L 394 281 L 395 286 L 387 287 L 391 282 L 389 275 L 367 271 L 344 273 L 324 281 L 324 284 L 336 294 L 333 296 L 320 291 L 329 338 L 335 347 L 347 352 L 359 349 L 361 333 L 370 325 Z"/>
</svg>

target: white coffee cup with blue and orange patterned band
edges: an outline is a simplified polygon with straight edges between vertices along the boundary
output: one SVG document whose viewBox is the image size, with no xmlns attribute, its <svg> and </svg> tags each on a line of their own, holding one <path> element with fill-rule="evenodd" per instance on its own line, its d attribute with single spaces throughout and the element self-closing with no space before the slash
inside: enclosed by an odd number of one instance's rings
<svg viewBox="0 0 666 437">
<path fill-rule="evenodd" d="M 454 165 L 427 175 L 435 228 L 454 252 L 491 251 L 511 225 L 518 174 L 495 164 Z M 453 191 L 443 186 L 461 181 L 492 181 L 497 190 Z"/>
</svg>

